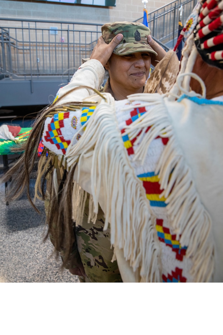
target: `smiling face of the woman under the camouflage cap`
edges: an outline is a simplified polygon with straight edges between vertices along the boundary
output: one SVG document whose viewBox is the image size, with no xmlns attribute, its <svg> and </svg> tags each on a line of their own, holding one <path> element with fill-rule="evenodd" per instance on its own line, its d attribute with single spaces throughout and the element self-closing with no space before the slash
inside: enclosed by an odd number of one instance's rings
<svg viewBox="0 0 223 335">
<path fill-rule="evenodd" d="M 112 54 L 107 63 L 112 89 L 114 87 L 137 93 L 145 85 L 150 65 L 149 52 L 136 52 L 125 56 Z"/>
</svg>

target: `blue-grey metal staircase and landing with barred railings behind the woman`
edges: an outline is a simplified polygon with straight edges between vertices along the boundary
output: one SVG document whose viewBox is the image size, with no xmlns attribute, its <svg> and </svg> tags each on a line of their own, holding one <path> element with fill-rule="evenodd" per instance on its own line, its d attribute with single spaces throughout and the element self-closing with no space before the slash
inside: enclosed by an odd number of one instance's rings
<svg viewBox="0 0 223 335">
<path fill-rule="evenodd" d="M 176 43 L 180 6 L 184 24 L 195 3 L 177 0 L 148 14 L 152 36 L 166 51 Z M 90 57 L 101 26 L 0 18 L 0 109 L 52 103 L 51 93 L 66 85 L 82 59 Z"/>
</svg>

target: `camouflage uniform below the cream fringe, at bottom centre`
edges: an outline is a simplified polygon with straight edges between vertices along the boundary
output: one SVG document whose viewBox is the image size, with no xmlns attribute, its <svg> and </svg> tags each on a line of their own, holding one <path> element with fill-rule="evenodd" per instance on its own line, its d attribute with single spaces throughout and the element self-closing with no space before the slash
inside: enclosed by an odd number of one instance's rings
<svg viewBox="0 0 223 335">
<path fill-rule="evenodd" d="M 78 251 L 87 277 L 81 282 L 122 282 L 117 261 L 111 262 L 110 229 L 103 231 L 104 213 L 99 206 L 96 223 L 88 223 L 88 199 L 81 226 L 75 229 Z"/>
</svg>

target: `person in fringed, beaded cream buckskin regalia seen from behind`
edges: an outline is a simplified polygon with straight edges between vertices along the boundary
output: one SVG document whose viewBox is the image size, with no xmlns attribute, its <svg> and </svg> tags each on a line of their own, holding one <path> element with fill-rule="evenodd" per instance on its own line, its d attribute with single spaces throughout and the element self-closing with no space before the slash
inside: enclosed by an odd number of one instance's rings
<svg viewBox="0 0 223 335">
<path fill-rule="evenodd" d="M 114 247 L 111 262 L 117 260 L 123 282 L 223 281 L 222 11 L 222 1 L 198 1 L 182 29 L 180 39 L 187 40 L 169 91 L 147 93 L 160 89 L 160 73 L 168 80 L 166 74 L 173 72 L 167 53 L 153 80 L 136 94 L 124 96 L 122 91 L 119 99 L 111 79 L 113 95 L 99 92 L 104 67 L 114 69 L 116 56 L 110 56 L 118 44 L 116 35 L 108 44 L 99 41 L 91 60 L 40 116 L 33 138 L 42 135 L 50 154 L 41 157 L 37 182 L 51 174 L 48 220 L 63 232 L 55 245 L 67 260 L 72 254 L 71 220 L 76 227 L 83 224 L 89 198 L 88 223 L 93 227 L 102 210 L 103 231 L 110 229 Z M 129 85 L 140 81 L 143 70 L 135 71 L 134 79 L 131 74 Z M 76 118 L 75 129 L 65 117 Z M 55 133 L 49 133 L 62 118 L 58 129 L 63 148 L 53 142 Z M 31 141 L 28 145 L 33 150 Z M 88 271 L 85 261 L 83 268 Z"/>
</svg>

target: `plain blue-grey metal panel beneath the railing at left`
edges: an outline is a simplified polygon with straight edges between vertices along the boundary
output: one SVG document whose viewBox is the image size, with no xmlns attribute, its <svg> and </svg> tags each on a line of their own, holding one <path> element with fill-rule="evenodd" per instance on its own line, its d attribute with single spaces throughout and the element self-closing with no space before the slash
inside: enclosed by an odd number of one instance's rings
<svg viewBox="0 0 223 335">
<path fill-rule="evenodd" d="M 49 105 L 53 102 L 60 87 L 66 85 L 68 80 L 32 79 L 0 80 L 0 108 L 8 106 Z"/>
</svg>

